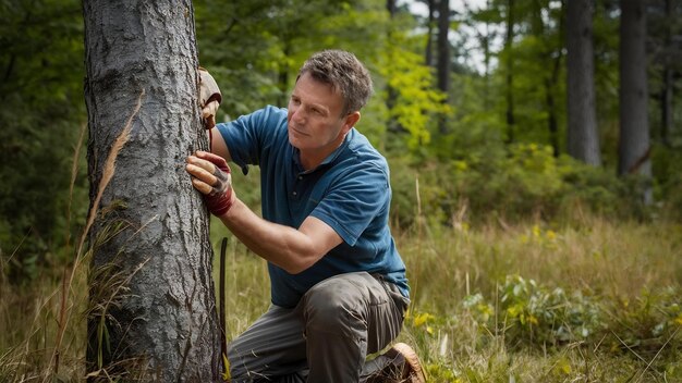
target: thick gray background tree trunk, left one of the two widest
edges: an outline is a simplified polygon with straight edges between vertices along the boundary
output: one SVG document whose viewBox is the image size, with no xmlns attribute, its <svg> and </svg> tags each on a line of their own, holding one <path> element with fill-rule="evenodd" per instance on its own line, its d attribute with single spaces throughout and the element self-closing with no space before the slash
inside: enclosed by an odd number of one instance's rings
<svg viewBox="0 0 682 383">
<path fill-rule="evenodd" d="M 593 0 L 569 0 L 567 23 L 568 152 L 587 164 L 601 164 L 595 101 L 592 34 Z"/>
</svg>

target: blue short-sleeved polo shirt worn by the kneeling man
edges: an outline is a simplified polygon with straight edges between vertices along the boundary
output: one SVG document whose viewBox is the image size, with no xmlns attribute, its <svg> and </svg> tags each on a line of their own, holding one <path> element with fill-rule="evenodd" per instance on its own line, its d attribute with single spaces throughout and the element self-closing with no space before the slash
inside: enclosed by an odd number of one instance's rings
<svg viewBox="0 0 682 383">
<path fill-rule="evenodd" d="M 388 219 L 391 202 L 386 159 L 355 128 L 316 169 L 305 171 L 289 143 L 287 109 L 267 107 L 218 129 L 238 165 L 260 166 L 263 218 L 299 227 L 313 215 L 343 239 L 310 268 L 290 274 L 269 263 L 272 304 L 291 308 L 316 283 L 366 271 L 410 288 Z"/>
</svg>

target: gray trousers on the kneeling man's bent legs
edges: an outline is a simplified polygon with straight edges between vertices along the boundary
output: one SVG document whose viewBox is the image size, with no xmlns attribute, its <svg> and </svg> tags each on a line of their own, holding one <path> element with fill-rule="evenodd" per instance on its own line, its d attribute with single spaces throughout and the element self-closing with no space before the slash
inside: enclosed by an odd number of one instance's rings
<svg viewBox="0 0 682 383">
<path fill-rule="evenodd" d="M 398 336 L 409 302 L 366 272 L 325 280 L 293 309 L 270 306 L 231 342 L 232 382 L 365 382 L 390 362 L 365 358 Z"/>
</svg>

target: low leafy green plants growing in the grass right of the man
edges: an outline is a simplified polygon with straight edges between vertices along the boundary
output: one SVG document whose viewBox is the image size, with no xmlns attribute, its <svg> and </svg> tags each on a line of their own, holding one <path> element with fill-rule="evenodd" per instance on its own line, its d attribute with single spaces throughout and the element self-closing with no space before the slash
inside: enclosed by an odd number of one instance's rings
<svg viewBox="0 0 682 383">
<path fill-rule="evenodd" d="M 650 358 L 675 355 L 682 347 L 682 301 L 679 288 L 648 291 L 610 299 L 581 291 L 548 288 L 520 275 L 507 276 L 494 300 L 479 293 L 466 296 L 462 308 L 483 333 L 503 334 L 509 347 L 558 348 L 600 344 L 610 351 Z M 431 332 L 435 330 L 431 330 Z"/>
</svg>

